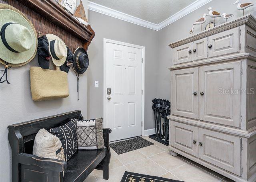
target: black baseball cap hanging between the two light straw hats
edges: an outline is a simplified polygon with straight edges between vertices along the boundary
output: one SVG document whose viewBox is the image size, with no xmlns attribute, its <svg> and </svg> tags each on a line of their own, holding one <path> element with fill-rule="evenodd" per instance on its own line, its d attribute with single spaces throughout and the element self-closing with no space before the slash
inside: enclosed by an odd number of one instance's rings
<svg viewBox="0 0 256 182">
<path fill-rule="evenodd" d="M 51 55 L 49 51 L 49 42 L 45 35 L 38 38 L 37 53 L 39 66 L 44 69 L 49 69 Z"/>
</svg>

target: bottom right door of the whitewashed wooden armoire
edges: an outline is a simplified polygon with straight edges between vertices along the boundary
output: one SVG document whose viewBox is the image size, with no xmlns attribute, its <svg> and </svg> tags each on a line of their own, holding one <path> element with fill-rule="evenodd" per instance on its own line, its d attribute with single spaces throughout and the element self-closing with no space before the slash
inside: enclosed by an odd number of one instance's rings
<svg viewBox="0 0 256 182">
<path fill-rule="evenodd" d="M 198 142 L 200 159 L 240 176 L 241 138 L 199 128 Z"/>
</svg>

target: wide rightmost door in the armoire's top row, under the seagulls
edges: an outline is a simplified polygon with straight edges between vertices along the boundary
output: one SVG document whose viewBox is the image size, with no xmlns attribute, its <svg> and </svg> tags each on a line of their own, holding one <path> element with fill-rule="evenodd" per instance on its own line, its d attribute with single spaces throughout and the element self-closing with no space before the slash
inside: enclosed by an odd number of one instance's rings
<svg viewBox="0 0 256 182">
<path fill-rule="evenodd" d="M 209 37 L 208 57 L 216 57 L 240 52 L 240 27 L 236 27 Z"/>
</svg>

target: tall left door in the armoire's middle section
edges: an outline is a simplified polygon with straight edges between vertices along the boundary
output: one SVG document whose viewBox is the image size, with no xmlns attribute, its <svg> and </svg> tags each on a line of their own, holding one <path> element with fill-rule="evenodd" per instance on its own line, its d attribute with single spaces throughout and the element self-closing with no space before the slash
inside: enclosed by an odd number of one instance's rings
<svg viewBox="0 0 256 182">
<path fill-rule="evenodd" d="M 198 68 L 172 71 L 172 115 L 198 119 Z"/>
</svg>

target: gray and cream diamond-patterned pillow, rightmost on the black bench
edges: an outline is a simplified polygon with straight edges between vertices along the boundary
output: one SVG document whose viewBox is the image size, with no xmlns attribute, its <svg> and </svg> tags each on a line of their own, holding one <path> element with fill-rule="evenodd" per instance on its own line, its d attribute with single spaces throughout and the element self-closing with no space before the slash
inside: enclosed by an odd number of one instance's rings
<svg viewBox="0 0 256 182">
<path fill-rule="evenodd" d="M 105 149 L 102 121 L 102 117 L 84 121 L 76 119 L 79 150 Z"/>
</svg>

